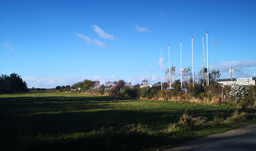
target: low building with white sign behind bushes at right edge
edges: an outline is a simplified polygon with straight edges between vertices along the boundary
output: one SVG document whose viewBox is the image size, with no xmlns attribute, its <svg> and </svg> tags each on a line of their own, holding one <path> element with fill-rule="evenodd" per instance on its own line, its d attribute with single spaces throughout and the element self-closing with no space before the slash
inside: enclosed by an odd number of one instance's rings
<svg viewBox="0 0 256 151">
<path fill-rule="evenodd" d="M 231 85 L 233 83 L 241 85 L 255 85 L 256 77 L 244 77 L 244 78 L 230 78 L 230 79 L 217 79 L 216 82 L 223 85 Z"/>
</svg>

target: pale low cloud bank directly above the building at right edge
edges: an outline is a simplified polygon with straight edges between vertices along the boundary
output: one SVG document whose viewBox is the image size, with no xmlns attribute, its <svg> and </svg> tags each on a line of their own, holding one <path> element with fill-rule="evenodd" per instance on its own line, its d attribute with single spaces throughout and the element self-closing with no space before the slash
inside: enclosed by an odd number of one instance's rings
<svg viewBox="0 0 256 151">
<path fill-rule="evenodd" d="M 231 67 L 234 70 L 234 73 L 232 73 L 234 78 L 252 77 L 256 72 L 256 60 L 215 62 L 210 66 L 212 69 L 220 70 L 221 78 L 231 78 L 229 73 Z"/>
</svg>

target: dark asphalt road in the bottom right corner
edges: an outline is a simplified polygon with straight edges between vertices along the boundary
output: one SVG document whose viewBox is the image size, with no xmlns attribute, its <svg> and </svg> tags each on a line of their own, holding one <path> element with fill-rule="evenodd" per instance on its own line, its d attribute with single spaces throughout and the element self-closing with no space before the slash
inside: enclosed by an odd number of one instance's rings
<svg viewBox="0 0 256 151">
<path fill-rule="evenodd" d="M 165 151 L 180 150 L 255 150 L 256 151 L 256 124 L 240 127 L 222 134 L 213 134 L 204 138 L 198 138 L 186 142 L 179 147 L 166 149 Z"/>
</svg>

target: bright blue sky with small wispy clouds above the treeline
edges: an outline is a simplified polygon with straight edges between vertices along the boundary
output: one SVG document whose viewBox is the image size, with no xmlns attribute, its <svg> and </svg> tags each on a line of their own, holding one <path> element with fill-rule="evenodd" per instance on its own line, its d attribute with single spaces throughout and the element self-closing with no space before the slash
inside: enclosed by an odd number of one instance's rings
<svg viewBox="0 0 256 151">
<path fill-rule="evenodd" d="M 28 87 L 55 88 L 84 79 L 161 80 L 171 64 L 221 78 L 256 77 L 256 1 L 12 1 L 0 0 L 0 73 L 17 73 Z M 244 67 L 252 66 L 252 67 Z"/>
</svg>

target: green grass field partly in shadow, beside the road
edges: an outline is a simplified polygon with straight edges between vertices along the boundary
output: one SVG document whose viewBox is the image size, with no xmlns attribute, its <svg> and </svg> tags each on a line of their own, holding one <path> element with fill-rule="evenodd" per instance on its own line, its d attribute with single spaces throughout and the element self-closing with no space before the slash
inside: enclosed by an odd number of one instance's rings
<svg viewBox="0 0 256 151">
<path fill-rule="evenodd" d="M 0 150 L 156 150 L 256 121 L 206 124 L 200 130 L 175 127 L 187 108 L 207 121 L 214 112 L 226 118 L 232 111 L 225 105 L 78 93 L 1 94 Z"/>
</svg>

